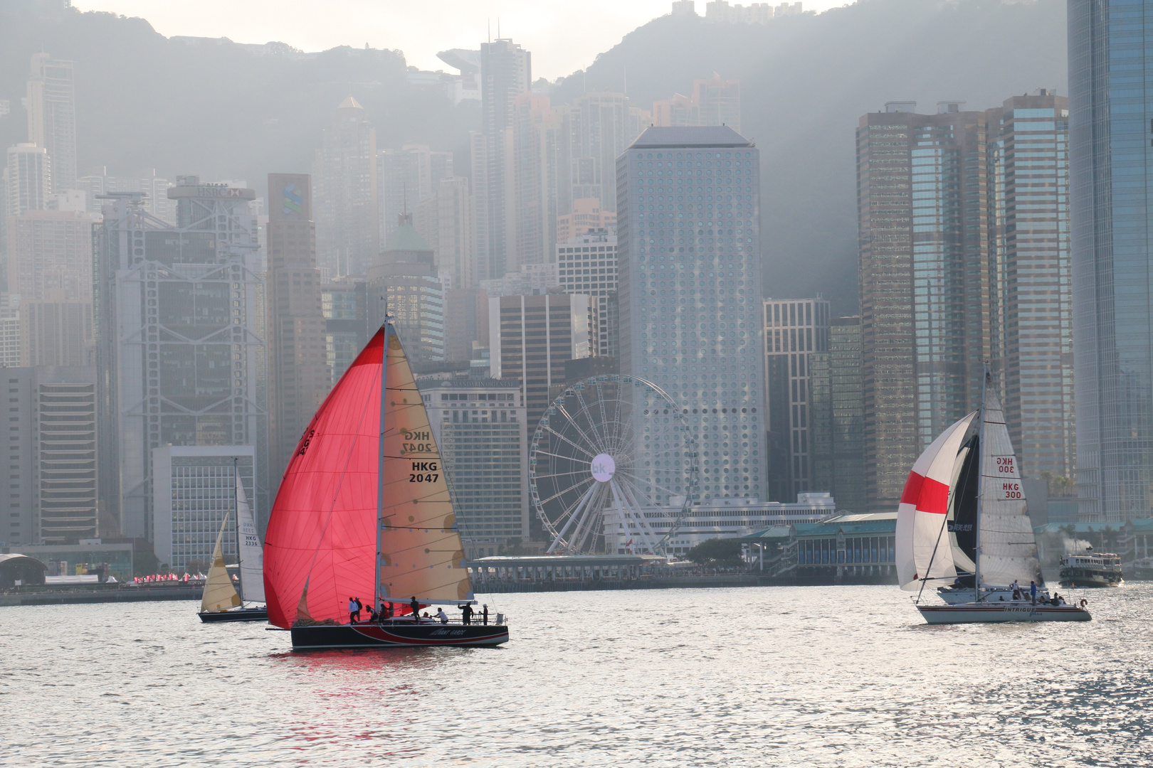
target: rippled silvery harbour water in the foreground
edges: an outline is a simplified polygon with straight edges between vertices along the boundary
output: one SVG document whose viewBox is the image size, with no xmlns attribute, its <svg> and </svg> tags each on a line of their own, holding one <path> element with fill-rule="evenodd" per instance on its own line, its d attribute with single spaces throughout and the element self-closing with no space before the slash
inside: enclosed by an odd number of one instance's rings
<svg viewBox="0 0 1153 768">
<path fill-rule="evenodd" d="M 929 628 L 896 587 L 490 595 L 496 649 L 295 654 L 190 602 L 0 608 L 0 765 L 1140 766 L 1153 585 Z"/>
</svg>

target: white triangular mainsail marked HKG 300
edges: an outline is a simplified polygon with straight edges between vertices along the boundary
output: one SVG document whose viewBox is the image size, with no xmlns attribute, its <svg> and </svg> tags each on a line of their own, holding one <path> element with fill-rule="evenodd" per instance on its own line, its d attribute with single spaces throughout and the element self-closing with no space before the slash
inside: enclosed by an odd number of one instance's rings
<svg viewBox="0 0 1153 768">
<path fill-rule="evenodd" d="M 978 564 L 981 586 L 1012 581 L 1043 584 L 1033 525 L 1025 510 L 1025 486 L 1012 450 L 1001 401 L 988 374 L 981 432 L 981 493 Z"/>
</svg>

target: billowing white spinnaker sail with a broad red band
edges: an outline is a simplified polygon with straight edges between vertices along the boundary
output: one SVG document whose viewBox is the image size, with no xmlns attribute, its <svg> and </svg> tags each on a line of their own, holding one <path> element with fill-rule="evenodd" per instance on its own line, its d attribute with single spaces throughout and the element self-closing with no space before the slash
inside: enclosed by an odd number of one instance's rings
<svg viewBox="0 0 1153 768">
<path fill-rule="evenodd" d="M 905 480 L 897 507 L 897 579 L 900 588 L 915 592 L 925 580 L 957 577 L 952 547 L 945 534 L 949 493 L 956 479 L 957 451 L 969 425 L 970 413 L 942 432 L 917 458 Z"/>
</svg>

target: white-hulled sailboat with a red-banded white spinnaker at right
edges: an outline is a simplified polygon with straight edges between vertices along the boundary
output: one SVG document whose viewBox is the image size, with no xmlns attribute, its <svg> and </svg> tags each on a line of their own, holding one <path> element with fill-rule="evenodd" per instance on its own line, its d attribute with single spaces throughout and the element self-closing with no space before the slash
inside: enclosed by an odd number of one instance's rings
<svg viewBox="0 0 1153 768">
<path fill-rule="evenodd" d="M 941 433 L 913 464 L 896 539 L 900 587 L 918 593 L 917 609 L 929 624 L 1091 618 L 1085 601 L 1053 604 L 1043 590 L 1019 463 L 988 370 L 981 408 Z M 937 587 L 947 604 L 921 602 L 926 587 Z"/>
</svg>

